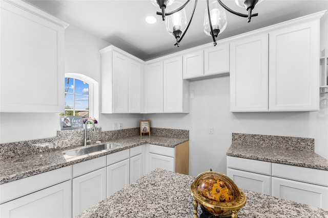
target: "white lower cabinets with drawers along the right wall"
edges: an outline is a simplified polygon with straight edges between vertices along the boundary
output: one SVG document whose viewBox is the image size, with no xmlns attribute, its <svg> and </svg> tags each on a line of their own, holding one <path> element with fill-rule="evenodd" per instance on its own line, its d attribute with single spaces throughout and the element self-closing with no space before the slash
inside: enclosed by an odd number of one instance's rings
<svg viewBox="0 0 328 218">
<path fill-rule="evenodd" d="M 240 188 L 328 210 L 328 171 L 228 156 L 227 175 Z"/>
</svg>

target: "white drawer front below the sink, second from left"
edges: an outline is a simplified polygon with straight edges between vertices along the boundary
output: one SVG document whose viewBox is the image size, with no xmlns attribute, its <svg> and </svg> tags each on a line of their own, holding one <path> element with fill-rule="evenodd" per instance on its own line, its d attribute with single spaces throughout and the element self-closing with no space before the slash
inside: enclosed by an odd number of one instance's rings
<svg viewBox="0 0 328 218">
<path fill-rule="evenodd" d="M 83 161 L 73 165 L 73 178 L 106 166 L 106 156 Z"/>
</svg>

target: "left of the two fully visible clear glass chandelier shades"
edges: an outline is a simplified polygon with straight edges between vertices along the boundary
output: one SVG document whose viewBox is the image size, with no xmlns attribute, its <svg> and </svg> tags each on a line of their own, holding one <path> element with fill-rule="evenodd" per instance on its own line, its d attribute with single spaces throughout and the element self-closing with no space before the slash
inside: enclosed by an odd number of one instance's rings
<svg viewBox="0 0 328 218">
<path fill-rule="evenodd" d="M 177 7 L 182 6 L 182 4 L 179 2 L 176 2 L 176 5 L 177 5 Z M 183 8 L 182 10 L 180 10 L 170 16 L 167 16 L 166 22 L 165 22 L 166 30 L 170 34 L 173 34 L 174 37 L 176 38 L 176 35 L 175 35 L 176 31 L 182 32 L 183 30 L 185 30 L 187 27 L 187 23 L 188 23 L 188 20 L 187 20 L 186 11 Z M 180 35 L 178 37 L 180 37 Z"/>
</svg>

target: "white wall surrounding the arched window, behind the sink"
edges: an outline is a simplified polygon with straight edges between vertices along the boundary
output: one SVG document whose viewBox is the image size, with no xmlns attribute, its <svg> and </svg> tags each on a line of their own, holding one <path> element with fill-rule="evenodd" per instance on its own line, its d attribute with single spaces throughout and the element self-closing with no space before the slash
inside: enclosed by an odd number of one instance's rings
<svg viewBox="0 0 328 218">
<path fill-rule="evenodd" d="M 108 42 L 70 25 L 65 30 L 65 72 L 91 77 L 99 83 L 100 91 L 98 51 L 108 45 Z M 108 131 L 112 130 L 114 122 L 122 123 L 124 129 L 138 127 L 142 114 L 100 114 L 96 118 L 99 126 Z M 0 143 L 54 137 L 57 130 L 58 114 L 0 113 Z"/>
</svg>

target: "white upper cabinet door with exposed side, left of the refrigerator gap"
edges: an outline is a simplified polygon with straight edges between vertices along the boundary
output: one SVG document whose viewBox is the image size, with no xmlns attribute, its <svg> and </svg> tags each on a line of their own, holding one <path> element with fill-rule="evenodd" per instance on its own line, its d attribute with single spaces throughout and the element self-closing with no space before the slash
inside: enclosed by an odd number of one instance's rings
<svg viewBox="0 0 328 218">
<path fill-rule="evenodd" d="M 163 61 L 163 112 L 189 112 L 189 81 L 182 79 L 182 57 Z"/>
</svg>

